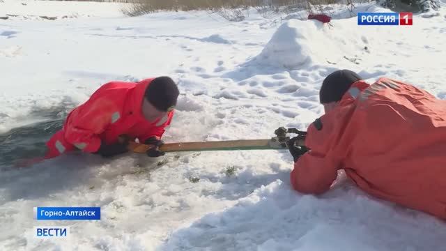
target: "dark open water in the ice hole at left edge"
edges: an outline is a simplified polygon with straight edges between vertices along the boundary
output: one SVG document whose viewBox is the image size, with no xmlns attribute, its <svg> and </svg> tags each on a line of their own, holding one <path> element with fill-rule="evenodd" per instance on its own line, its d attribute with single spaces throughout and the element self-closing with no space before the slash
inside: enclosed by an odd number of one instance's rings
<svg viewBox="0 0 446 251">
<path fill-rule="evenodd" d="M 45 143 L 62 128 L 68 109 L 54 108 L 33 112 L 30 116 L 44 122 L 13 128 L 0 134 L 0 170 L 12 167 L 20 160 L 43 157 Z"/>
</svg>

